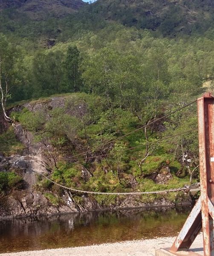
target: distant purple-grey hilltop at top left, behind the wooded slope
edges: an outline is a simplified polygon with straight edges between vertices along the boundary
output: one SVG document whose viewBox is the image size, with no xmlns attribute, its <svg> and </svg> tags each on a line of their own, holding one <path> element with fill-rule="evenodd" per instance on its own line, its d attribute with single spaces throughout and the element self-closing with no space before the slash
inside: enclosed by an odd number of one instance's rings
<svg viewBox="0 0 214 256">
<path fill-rule="evenodd" d="M 0 0 L 0 10 L 14 8 L 33 19 L 61 17 L 75 12 L 84 5 L 82 0 Z"/>
</svg>

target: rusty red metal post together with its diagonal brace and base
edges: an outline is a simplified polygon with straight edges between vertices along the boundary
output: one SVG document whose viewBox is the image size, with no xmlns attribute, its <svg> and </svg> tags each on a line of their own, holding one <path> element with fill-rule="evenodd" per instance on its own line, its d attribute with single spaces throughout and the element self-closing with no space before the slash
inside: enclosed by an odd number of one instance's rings
<svg viewBox="0 0 214 256">
<path fill-rule="evenodd" d="M 171 255 L 198 255 L 184 250 L 190 248 L 202 227 L 204 256 L 214 256 L 214 96 L 205 93 L 197 105 L 201 196 L 169 250 Z M 157 251 L 156 255 L 161 254 Z"/>
</svg>

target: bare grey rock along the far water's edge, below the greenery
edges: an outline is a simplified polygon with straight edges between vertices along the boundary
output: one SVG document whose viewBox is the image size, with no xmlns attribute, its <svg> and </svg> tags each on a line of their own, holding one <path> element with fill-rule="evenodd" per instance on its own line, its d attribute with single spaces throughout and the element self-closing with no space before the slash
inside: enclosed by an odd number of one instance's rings
<svg viewBox="0 0 214 256">
<path fill-rule="evenodd" d="M 0 170 L 2 172 L 15 171 L 22 177 L 21 182 L 11 189 L 8 195 L 0 197 L 0 219 L 67 214 L 71 212 L 88 212 L 101 210 L 115 210 L 127 208 L 175 207 L 175 202 L 165 198 L 145 200 L 140 195 L 118 196 L 108 205 L 100 204 L 90 195 L 78 195 L 66 189 L 61 190 L 61 201 L 54 204 L 47 194 L 37 189 L 36 183 L 40 178 L 34 169 L 46 173 L 47 170 L 41 160 L 42 156 L 13 155 L 0 156 Z M 178 195 L 179 204 L 191 206 L 190 195 Z"/>
</svg>

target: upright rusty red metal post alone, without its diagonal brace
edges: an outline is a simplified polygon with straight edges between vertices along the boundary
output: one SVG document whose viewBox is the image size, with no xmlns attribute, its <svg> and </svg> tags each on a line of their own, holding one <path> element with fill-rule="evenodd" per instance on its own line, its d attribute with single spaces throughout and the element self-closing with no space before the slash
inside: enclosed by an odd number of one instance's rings
<svg viewBox="0 0 214 256">
<path fill-rule="evenodd" d="M 198 135 L 204 256 L 214 256 L 214 96 L 198 99 Z"/>
</svg>

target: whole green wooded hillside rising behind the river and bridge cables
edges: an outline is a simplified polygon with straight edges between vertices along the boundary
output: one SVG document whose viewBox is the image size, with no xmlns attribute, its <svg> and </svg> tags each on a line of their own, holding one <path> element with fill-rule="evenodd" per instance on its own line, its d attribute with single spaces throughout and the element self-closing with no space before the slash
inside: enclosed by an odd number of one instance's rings
<svg viewBox="0 0 214 256">
<path fill-rule="evenodd" d="M 0 77 L 9 122 L 0 122 L 1 195 L 25 190 L 27 182 L 62 205 L 63 191 L 20 171 L 34 168 L 66 186 L 103 192 L 197 181 L 197 130 L 184 133 L 197 128 L 196 105 L 150 123 L 212 90 L 213 8 L 209 0 L 98 0 L 37 20 L 2 10 Z M 14 155 L 28 167 L 14 168 Z M 75 200 L 85 204 L 84 196 Z"/>
</svg>

